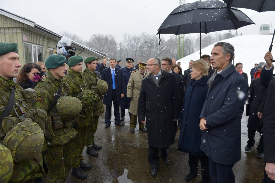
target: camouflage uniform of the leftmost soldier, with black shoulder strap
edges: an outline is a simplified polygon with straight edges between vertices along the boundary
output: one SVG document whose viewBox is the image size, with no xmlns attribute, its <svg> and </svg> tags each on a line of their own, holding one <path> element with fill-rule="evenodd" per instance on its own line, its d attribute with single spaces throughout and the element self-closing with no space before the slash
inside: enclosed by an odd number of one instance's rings
<svg viewBox="0 0 275 183">
<path fill-rule="evenodd" d="M 31 118 L 35 121 L 33 112 L 31 111 L 32 107 L 26 102 L 23 97 L 22 91 L 23 89 L 15 84 L 11 79 L 6 80 L 0 76 L 0 115 L 3 113 L 12 91 L 12 86 L 15 86 L 15 103 L 19 105 L 23 111 L 25 112 L 25 118 Z M 16 107 L 17 113 L 20 114 L 18 107 Z M 3 127 L 9 128 L 5 129 L 9 131 L 14 124 L 21 122 L 20 118 L 16 117 L 16 113 L 14 112 L 14 108 L 9 113 L 8 117 L 12 117 L 13 120 L 5 120 L 4 118 L 2 125 L 0 126 L 0 143 L 3 143 L 4 137 L 6 136 L 6 132 Z M 11 123 L 11 124 L 9 124 Z M 42 129 L 44 130 L 44 129 Z M 1 159 L 2 160 L 2 159 Z M 27 182 L 30 179 L 34 179 L 36 177 L 41 177 L 43 175 L 43 165 L 42 165 L 42 153 L 39 153 L 35 158 L 30 161 L 16 163 L 13 165 L 13 172 L 10 178 L 10 182 Z"/>
</svg>

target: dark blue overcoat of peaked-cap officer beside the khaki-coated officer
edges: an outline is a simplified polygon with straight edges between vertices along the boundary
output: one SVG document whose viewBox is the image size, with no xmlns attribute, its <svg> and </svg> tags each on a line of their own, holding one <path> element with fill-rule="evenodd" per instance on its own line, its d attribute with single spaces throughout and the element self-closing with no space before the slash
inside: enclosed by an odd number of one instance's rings
<svg viewBox="0 0 275 183">
<path fill-rule="evenodd" d="M 127 91 L 127 84 L 129 82 L 129 79 L 130 79 L 130 75 L 132 73 L 132 71 L 134 71 L 135 69 L 134 68 L 130 68 L 128 69 L 127 67 L 124 67 L 122 69 L 122 76 L 123 76 L 123 79 L 124 79 L 124 84 L 123 84 L 123 90 L 124 91 Z M 119 106 L 123 109 L 129 109 L 130 108 L 130 100 L 127 99 L 127 96 L 125 94 L 125 97 L 122 99 L 122 102 L 119 104 Z"/>
</svg>

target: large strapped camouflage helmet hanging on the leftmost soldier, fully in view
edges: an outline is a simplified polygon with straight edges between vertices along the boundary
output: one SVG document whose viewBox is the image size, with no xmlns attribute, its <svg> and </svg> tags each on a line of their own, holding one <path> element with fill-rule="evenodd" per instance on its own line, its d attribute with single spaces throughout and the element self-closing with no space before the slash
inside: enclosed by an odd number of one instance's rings
<svg viewBox="0 0 275 183">
<path fill-rule="evenodd" d="M 44 133 L 30 118 L 17 123 L 6 134 L 3 145 L 10 151 L 15 162 L 25 162 L 37 156 L 44 144 Z"/>
</svg>

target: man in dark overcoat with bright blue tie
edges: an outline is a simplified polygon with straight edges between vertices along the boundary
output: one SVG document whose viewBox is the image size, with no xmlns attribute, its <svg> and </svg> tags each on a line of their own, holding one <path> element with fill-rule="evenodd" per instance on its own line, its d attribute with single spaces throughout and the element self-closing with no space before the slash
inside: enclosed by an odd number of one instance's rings
<svg viewBox="0 0 275 183">
<path fill-rule="evenodd" d="M 106 105 L 105 128 L 111 125 L 112 101 L 114 104 L 115 125 L 124 126 L 124 124 L 120 122 L 119 104 L 122 102 L 126 91 L 124 91 L 123 87 L 124 79 L 122 71 L 116 67 L 115 58 L 110 59 L 110 67 L 102 71 L 101 79 L 108 84 L 108 90 L 103 98 L 103 103 Z"/>
</svg>

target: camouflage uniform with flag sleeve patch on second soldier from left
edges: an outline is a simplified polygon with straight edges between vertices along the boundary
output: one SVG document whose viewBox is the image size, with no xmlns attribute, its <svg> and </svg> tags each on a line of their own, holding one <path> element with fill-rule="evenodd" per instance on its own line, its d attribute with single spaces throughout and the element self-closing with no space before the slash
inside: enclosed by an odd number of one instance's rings
<svg viewBox="0 0 275 183">
<path fill-rule="evenodd" d="M 37 103 L 36 107 L 48 111 L 54 101 L 54 93 L 57 93 L 62 84 L 61 96 L 70 94 L 70 89 L 62 78 L 56 79 L 48 70 L 46 78 L 35 87 Z M 60 120 L 56 106 L 48 113 L 51 118 L 54 137 L 47 143 L 48 153 L 45 157 L 48 176 L 47 182 L 65 182 L 72 168 L 71 139 L 77 134 L 72 128 L 72 121 Z M 60 127 L 59 127 L 60 126 Z"/>
</svg>

